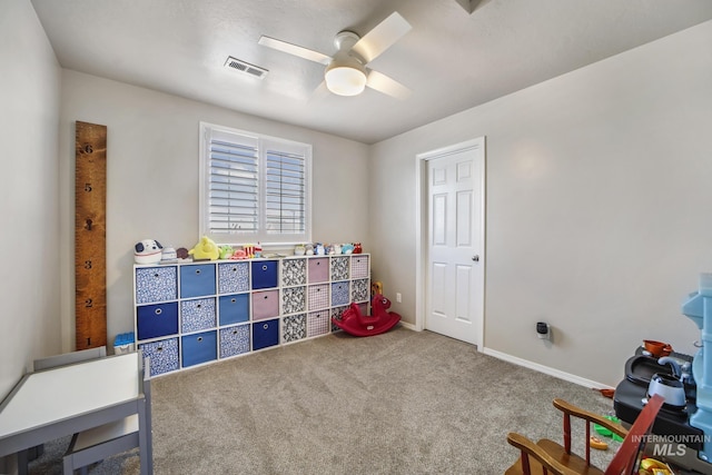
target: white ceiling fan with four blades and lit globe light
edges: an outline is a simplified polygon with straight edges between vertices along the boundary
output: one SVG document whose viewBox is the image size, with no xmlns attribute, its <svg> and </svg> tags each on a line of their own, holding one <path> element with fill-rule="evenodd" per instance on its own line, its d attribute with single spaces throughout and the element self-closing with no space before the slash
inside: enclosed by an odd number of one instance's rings
<svg viewBox="0 0 712 475">
<path fill-rule="evenodd" d="M 366 68 L 366 65 L 403 38 L 411 28 L 398 12 L 393 12 L 363 37 L 353 31 L 340 31 L 334 38 L 337 51 L 333 57 L 266 36 L 260 37 L 258 43 L 326 66 L 324 81 L 326 88 L 335 95 L 357 96 L 368 87 L 405 99 L 411 95 L 408 88 L 386 75 Z"/>
</svg>

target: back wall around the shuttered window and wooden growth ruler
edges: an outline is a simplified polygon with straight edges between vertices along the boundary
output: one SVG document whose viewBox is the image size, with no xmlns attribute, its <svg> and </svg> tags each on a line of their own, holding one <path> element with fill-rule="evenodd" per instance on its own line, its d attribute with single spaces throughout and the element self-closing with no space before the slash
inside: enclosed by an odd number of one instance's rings
<svg viewBox="0 0 712 475">
<path fill-rule="evenodd" d="M 239 93 L 239 92 L 236 92 Z M 109 346 L 134 330 L 134 245 L 144 238 L 191 248 L 198 240 L 200 121 L 308 142 L 313 149 L 313 237 L 368 249 L 368 147 L 70 70 L 62 73 L 59 125 L 62 256 L 73 255 L 75 122 L 105 125 L 107 151 L 107 324 Z M 363 205 L 360 205 L 363 204 Z M 73 260 L 62 265 L 62 343 L 73 346 Z M 67 347 L 66 349 L 71 349 Z"/>
</svg>

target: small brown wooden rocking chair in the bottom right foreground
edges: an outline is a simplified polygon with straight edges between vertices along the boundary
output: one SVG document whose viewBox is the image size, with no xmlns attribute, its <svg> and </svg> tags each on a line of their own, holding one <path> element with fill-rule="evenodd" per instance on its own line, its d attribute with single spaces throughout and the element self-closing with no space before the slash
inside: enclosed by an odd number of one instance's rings
<svg viewBox="0 0 712 475">
<path fill-rule="evenodd" d="M 554 399 L 554 407 L 564 414 L 564 445 L 550 439 L 542 439 L 534 444 L 517 433 L 510 433 L 507 442 L 522 453 L 505 475 L 630 475 L 635 473 L 635 465 L 644 435 L 655 422 L 655 416 L 663 404 L 661 396 L 650 398 L 630 431 L 597 414 L 573 406 L 565 400 Z M 584 419 L 586 423 L 585 458 L 571 452 L 571 416 Z M 614 455 L 605 472 L 591 465 L 591 423 L 599 424 L 614 434 L 624 437 L 621 448 Z"/>
</svg>

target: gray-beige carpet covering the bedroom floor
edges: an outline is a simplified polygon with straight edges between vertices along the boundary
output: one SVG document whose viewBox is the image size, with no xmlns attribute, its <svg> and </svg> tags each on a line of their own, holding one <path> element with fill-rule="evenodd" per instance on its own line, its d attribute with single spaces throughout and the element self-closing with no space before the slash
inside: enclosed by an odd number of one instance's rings
<svg viewBox="0 0 712 475">
<path fill-rule="evenodd" d="M 156 474 L 502 474 L 506 434 L 561 439 L 562 397 L 612 402 L 429 331 L 339 333 L 152 380 Z M 583 444 L 583 425 L 575 426 Z M 31 474 L 60 474 L 68 439 Z M 593 451 L 594 463 L 612 457 Z M 581 445 L 574 445 L 574 451 Z M 138 474 L 138 452 L 89 472 Z"/>
</svg>

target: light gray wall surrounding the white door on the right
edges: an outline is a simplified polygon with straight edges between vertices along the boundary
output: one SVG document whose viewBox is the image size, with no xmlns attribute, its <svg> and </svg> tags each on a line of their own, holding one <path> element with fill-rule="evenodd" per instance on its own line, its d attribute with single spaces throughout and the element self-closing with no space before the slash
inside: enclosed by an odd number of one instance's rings
<svg viewBox="0 0 712 475">
<path fill-rule="evenodd" d="M 712 22 L 385 140 L 374 275 L 415 323 L 416 154 L 486 136 L 485 347 L 615 385 L 712 270 Z M 379 212 L 377 212 L 379 211 Z M 534 324 L 554 327 L 554 343 Z"/>
</svg>

